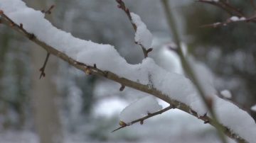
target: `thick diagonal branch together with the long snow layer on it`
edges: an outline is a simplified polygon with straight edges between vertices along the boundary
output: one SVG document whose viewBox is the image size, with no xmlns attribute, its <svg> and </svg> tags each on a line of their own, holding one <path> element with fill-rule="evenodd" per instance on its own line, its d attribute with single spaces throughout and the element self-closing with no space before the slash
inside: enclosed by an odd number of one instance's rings
<svg viewBox="0 0 256 143">
<path fill-rule="evenodd" d="M 193 83 L 181 74 L 159 67 L 154 59 L 147 57 L 140 64 L 128 64 L 112 45 L 75 38 L 55 28 L 44 18 L 44 13 L 28 8 L 21 0 L 1 0 L 0 10 L 1 23 L 73 67 L 149 93 L 216 127 Z M 250 115 L 218 96 L 211 99 L 218 115 L 218 126 L 225 129 L 225 135 L 238 142 L 256 140 L 256 125 Z"/>
</svg>

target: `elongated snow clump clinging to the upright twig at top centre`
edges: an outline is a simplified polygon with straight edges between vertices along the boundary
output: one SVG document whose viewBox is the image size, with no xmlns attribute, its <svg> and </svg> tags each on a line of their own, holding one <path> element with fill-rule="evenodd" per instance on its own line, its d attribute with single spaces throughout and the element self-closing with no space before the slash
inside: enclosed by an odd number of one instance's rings
<svg viewBox="0 0 256 143">
<path fill-rule="evenodd" d="M 153 35 L 146 28 L 145 23 L 142 22 L 142 19 L 135 13 L 131 13 L 132 23 L 137 26 L 134 40 L 140 45 L 143 45 L 146 49 L 151 48 Z"/>
</svg>

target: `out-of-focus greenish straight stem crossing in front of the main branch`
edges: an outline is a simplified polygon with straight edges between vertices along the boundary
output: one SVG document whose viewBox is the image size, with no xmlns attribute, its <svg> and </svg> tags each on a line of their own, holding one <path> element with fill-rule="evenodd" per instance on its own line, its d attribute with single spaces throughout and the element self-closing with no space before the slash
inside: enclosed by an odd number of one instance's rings
<svg viewBox="0 0 256 143">
<path fill-rule="evenodd" d="M 183 66 L 184 71 L 186 71 L 186 74 L 190 77 L 191 81 L 193 81 L 193 84 L 195 84 L 196 89 L 198 90 L 199 96 L 201 96 L 203 102 L 205 103 L 206 107 L 208 108 L 210 115 L 213 117 L 213 124 L 215 124 L 216 129 L 218 130 L 218 135 L 220 136 L 220 139 L 222 140 L 223 143 L 227 143 L 227 140 L 225 139 L 224 132 L 225 129 L 221 127 L 220 123 L 217 120 L 217 117 L 215 115 L 215 111 L 213 110 L 213 101 L 211 98 L 208 98 L 205 93 L 203 92 L 203 88 L 200 86 L 198 79 L 196 78 L 196 75 L 189 64 L 188 60 L 186 59 L 185 55 L 183 55 L 183 51 L 181 49 L 181 40 L 180 36 L 178 35 L 177 27 L 176 27 L 176 22 L 174 21 L 174 16 L 171 13 L 171 9 L 169 7 L 169 2 L 168 0 L 163 0 L 162 1 L 163 6 L 164 6 L 164 11 L 166 13 L 166 18 L 167 21 L 169 22 L 169 28 L 171 28 L 171 31 L 174 35 L 174 42 L 177 45 L 177 52 L 178 52 L 178 57 L 181 60 L 181 64 Z"/>
</svg>

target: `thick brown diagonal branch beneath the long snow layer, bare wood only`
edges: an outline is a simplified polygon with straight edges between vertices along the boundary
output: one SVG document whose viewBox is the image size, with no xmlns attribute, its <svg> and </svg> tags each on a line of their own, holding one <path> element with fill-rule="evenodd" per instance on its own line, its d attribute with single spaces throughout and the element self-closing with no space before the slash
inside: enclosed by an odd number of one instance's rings
<svg viewBox="0 0 256 143">
<path fill-rule="evenodd" d="M 143 91 L 145 93 L 149 93 L 153 96 L 156 96 L 157 98 L 160 98 L 163 101 L 166 101 L 170 105 L 174 105 L 174 108 L 178 108 L 180 110 L 183 110 L 184 112 L 191 114 L 198 118 L 198 114 L 193 111 L 188 105 L 172 100 L 165 94 L 161 93 L 161 91 L 158 91 L 156 88 L 149 88 L 147 85 L 139 84 L 135 81 L 131 81 L 129 79 L 125 79 L 122 77 L 117 76 L 116 74 L 112 73 L 111 71 L 102 71 L 101 69 L 97 69 L 96 65 L 94 66 L 88 66 L 87 64 L 83 64 L 81 62 L 76 61 L 75 59 L 68 57 L 68 55 L 65 55 L 65 53 L 60 52 L 56 50 L 54 47 L 51 47 L 50 45 L 47 45 L 45 42 L 38 40 L 35 35 L 32 33 L 28 33 L 25 29 L 23 29 L 23 26 L 20 26 L 4 14 L 3 11 L 0 10 L 0 16 L 1 16 L 1 23 L 4 23 L 4 25 L 9 26 L 10 28 L 16 30 L 18 33 L 21 33 L 21 35 L 25 36 L 29 40 L 35 42 L 37 45 L 43 47 L 47 52 L 49 52 L 51 55 L 55 55 L 56 57 L 59 57 L 60 59 L 63 59 L 65 62 L 68 62 L 73 67 L 80 69 L 81 71 L 84 71 L 85 74 L 93 74 L 97 76 L 103 76 L 107 79 L 110 79 L 112 81 L 116 81 L 117 83 L 128 86 L 130 88 L 137 89 L 138 91 Z M 213 125 L 213 127 L 221 127 L 223 128 L 225 135 L 228 135 L 228 137 L 231 137 L 233 139 L 238 140 L 239 142 L 245 142 L 245 139 L 242 139 L 239 135 L 233 133 L 228 127 L 225 127 L 223 125 L 216 125 L 211 118 L 208 116 L 199 117 L 199 119 L 203 120 L 204 122 L 208 122 L 210 125 Z"/>
</svg>

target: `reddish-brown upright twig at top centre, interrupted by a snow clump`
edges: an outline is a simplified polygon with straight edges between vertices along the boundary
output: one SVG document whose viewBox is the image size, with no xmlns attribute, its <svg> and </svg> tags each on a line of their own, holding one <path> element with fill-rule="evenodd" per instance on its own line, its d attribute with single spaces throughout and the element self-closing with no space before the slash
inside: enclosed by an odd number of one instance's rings
<svg viewBox="0 0 256 143">
<path fill-rule="evenodd" d="M 122 0 L 116 0 L 116 1 L 117 1 L 117 4 L 118 4 L 117 7 L 122 9 L 126 13 L 127 17 L 129 18 L 129 21 L 132 23 L 132 27 L 134 28 L 134 31 L 136 32 L 137 31 L 137 25 L 135 25 L 132 22 L 132 16 L 131 16 L 131 13 L 129 11 L 129 8 L 127 8 L 125 6 L 124 1 L 122 1 Z M 138 44 L 137 42 L 135 42 L 135 43 L 137 45 L 140 45 L 140 47 L 142 47 L 142 51 L 143 51 L 144 57 L 145 58 L 148 57 L 148 54 L 149 54 L 149 52 L 151 52 L 152 48 L 150 48 L 149 50 L 146 50 L 146 48 L 143 45 Z"/>
</svg>

